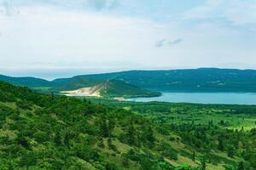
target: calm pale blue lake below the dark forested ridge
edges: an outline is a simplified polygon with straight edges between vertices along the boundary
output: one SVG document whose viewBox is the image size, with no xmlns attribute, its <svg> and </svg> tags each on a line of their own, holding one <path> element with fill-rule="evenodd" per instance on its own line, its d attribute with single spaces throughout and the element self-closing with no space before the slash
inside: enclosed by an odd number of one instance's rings
<svg viewBox="0 0 256 170">
<path fill-rule="evenodd" d="M 162 93 L 160 97 L 134 98 L 129 101 L 149 102 L 164 101 L 174 103 L 256 105 L 253 93 Z"/>
</svg>

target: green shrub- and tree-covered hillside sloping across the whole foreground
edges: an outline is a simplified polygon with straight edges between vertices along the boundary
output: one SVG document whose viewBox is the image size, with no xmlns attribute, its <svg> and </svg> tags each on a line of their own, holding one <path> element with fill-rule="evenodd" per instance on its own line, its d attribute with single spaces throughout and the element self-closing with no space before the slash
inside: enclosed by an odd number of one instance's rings
<svg viewBox="0 0 256 170">
<path fill-rule="evenodd" d="M 37 94 L 0 82 L 0 169 L 256 168 L 253 127 L 157 122 L 157 116 L 143 115 L 145 107 L 160 110 L 157 105 L 129 103 L 128 108 L 95 101 Z M 183 111 L 177 107 L 173 112 Z M 254 107 L 245 111 L 252 115 Z"/>
</svg>

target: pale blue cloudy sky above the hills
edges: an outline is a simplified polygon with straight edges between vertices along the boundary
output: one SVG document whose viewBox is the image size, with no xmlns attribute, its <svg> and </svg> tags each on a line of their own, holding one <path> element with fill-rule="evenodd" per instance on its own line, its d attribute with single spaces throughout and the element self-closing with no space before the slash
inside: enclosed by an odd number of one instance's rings
<svg viewBox="0 0 256 170">
<path fill-rule="evenodd" d="M 0 74 L 256 69 L 256 0 L 0 0 Z"/>
</svg>

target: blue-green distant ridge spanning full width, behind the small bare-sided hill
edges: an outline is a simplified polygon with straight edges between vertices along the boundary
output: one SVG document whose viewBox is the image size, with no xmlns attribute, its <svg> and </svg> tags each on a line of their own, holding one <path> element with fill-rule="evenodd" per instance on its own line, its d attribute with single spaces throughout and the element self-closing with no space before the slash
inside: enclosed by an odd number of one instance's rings
<svg viewBox="0 0 256 170">
<path fill-rule="evenodd" d="M 3 80 L 3 77 L 0 77 Z M 3 80 L 30 88 L 50 87 L 74 90 L 96 86 L 106 80 L 119 80 L 138 88 L 176 92 L 256 92 L 256 71 L 200 68 L 169 71 L 121 71 L 59 78 L 54 81 L 25 77 Z"/>
</svg>

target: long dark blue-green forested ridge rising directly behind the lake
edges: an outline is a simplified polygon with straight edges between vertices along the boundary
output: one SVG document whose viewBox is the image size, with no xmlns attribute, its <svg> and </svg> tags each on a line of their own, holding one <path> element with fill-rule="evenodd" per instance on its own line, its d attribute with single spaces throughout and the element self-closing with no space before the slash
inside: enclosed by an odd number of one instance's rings
<svg viewBox="0 0 256 170">
<path fill-rule="evenodd" d="M 256 71 L 254 70 L 201 68 L 170 71 L 123 71 L 79 76 L 79 78 L 83 77 L 115 78 L 140 88 L 159 91 L 256 92 Z"/>
</svg>

